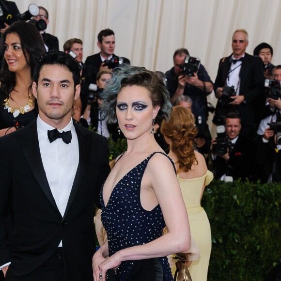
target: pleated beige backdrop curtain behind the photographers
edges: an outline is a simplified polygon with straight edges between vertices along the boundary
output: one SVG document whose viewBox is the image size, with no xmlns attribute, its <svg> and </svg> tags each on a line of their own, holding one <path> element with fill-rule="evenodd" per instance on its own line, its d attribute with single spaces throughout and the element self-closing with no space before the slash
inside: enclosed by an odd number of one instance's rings
<svg viewBox="0 0 281 281">
<path fill-rule="evenodd" d="M 186 47 L 201 59 L 211 79 L 219 59 L 231 54 L 235 29 L 249 33 L 247 52 L 261 42 L 274 49 L 273 63 L 281 64 L 281 0 L 15 0 L 21 13 L 34 3 L 49 12 L 47 32 L 63 43 L 83 41 L 84 61 L 97 53 L 97 34 L 115 32 L 115 54 L 134 65 L 166 72 L 175 49 Z M 214 94 L 209 100 L 215 105 Z"/>
</svg>

